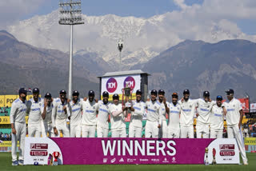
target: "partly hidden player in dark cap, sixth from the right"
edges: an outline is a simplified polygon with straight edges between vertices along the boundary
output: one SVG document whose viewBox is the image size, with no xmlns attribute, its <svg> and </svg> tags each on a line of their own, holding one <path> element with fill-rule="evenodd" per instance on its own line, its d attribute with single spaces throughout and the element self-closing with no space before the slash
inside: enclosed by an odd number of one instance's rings
<svg viewBox="0 0 256 171">
<path fill-rule="evenodd" d="M 163 102 L 164 101 L 164 102 Z M 158 137 L 167 137 L 167 121 L 166 121 L 166 97 L 165 97 L 165 91 L 163 89 L 158 90 L 158 102 L 161 104 L 161 109 L 159 112 L 161 112 L 161 128 L 159 129 L 159 136 Z"/>
</svg>

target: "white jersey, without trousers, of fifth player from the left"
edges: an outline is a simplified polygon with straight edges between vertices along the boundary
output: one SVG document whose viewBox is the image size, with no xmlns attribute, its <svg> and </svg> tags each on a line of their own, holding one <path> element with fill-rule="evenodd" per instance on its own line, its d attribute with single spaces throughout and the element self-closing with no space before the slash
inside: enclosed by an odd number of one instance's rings
<svg viewBox="0 0 256 171">
<path fill-rule="evenodd" d="M 76 103 L 70 101 L 70 125 L 80 125 L 82 121 L 82 101 L 78 99 Z"/>
</svg>

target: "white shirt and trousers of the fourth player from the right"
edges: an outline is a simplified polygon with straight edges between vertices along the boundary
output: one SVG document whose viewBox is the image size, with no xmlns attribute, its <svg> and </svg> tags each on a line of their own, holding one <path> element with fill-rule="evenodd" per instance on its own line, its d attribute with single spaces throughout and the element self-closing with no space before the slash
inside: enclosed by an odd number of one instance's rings
<svg viewBox="0 0 256 171">
<path fill-rule="evenodd" d="M 181 138 L 194 138 L 194 109 L 195 103 L 193 100 L 189 99 L 188 101 L 178 101 L 181 105 L 181 116 L 180 116 L 180 125 L 181 125 Z"/>
</svg>

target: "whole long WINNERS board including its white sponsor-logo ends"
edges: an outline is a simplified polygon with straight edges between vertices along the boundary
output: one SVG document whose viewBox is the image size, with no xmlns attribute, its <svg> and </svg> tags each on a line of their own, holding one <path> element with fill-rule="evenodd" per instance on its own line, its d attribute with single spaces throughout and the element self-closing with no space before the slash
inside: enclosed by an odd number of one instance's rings
<svg viewBox="0 0 256 171">
<path fill-rule="evenodd" d="M 214 148 L 217 164 L 239 163 L 234 139 L 26 137 L 24 164 L 47 165 L 54 152 L 63 165 L 204 164 L 206 147 L 209 162 Z"/>
</svg>

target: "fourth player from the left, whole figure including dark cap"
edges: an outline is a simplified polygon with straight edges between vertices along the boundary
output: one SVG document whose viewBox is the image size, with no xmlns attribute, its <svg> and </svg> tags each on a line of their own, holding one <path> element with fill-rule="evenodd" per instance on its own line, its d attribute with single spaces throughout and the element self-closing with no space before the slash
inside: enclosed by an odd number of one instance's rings
<svg viewBox="0 0 256 171">
<path fill-rule="evenodd" d="M 63 137 L 70 137 L 70 130 L 66 125 L 66 119 L 69 116 L 70 103 L 67 101 L 66 91 L 62 89 L 59 92 L 59 98 L 54 100 L 54 108 L 51 117 L 55 137 L 60 137 L 60 131 L 62 131 Z"/>
</svg>

